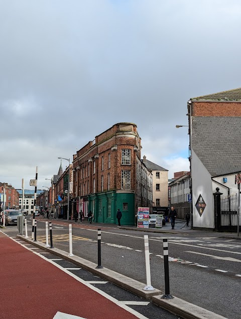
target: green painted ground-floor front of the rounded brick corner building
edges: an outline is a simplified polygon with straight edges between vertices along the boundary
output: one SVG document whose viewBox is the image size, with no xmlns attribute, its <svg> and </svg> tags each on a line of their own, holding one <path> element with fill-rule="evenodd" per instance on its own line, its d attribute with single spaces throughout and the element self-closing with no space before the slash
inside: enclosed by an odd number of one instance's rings
<svg viewBox="0 0 241 319">
<path fill-rule="evenodd" d="M 94 221 L 117 224 L 116 212 L 122 211 L 122 225 L 135 225 L 135 194 L 108 191 L 88 196 L 88 210 L 94 213 Z M 125 203 L 125 205 L 124 205 Z M 124 207 L 127 209 L 124 209 Z"/>
</svg>

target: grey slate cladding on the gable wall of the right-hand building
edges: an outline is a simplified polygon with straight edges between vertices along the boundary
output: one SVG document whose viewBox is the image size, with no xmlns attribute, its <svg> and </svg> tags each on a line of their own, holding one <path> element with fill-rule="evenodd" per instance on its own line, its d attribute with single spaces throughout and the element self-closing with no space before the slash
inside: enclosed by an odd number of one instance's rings
<svg viewBox="0 0 241 319">
<path fill-rule="evenodd" d="M 241 117 L 193 117 L 191 143 L 211 176 L 241 170 Z"/>
</svg>

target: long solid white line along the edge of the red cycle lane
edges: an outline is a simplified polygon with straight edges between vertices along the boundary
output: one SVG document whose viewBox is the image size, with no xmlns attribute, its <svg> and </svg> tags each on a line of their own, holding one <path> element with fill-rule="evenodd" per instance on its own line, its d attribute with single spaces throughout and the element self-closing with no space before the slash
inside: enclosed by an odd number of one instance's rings
<svg viewBox="0 0 241 319">
<path fill-rule="evenodd" d="M 11 238 L 11 239 L 12 239 L 12 238 Z M 12 240 L 14 240 L 14 239 L 12 239 Z M 14 240 L 14 241 L 15 241 L 15 240 Z M 15 241 L 15 242 L 16 242 L 16 241 Z M 20 243 L 20 245 L 22 245 L 22 244 Z M 26 247 L 25 245 L 22 245 L 22 246 L 25 247 L 25 249 L 28 249 L 28 250 L 32 251 L 30 248 Z M 46 258 L 45 256 L 43 256 L 42 254 L 39 254 L 38 252 L 35 252 L 35 251 L 32 251 L 32 253 L 35 253 L 37 256 L 39 256 L 39 257 L 41 257 L 41 258 L 47 260 L 48 262 L 52 263 L 55 267 L 57 267 L 57 268 L 63 270 L 65 273 L 67 273 L 67 274 L 70 275 L 71 277 L 75 278 L 77 281 L 81 282 L 81 283 L 84 284 L 85 286 L 87 286 L 87 287 L 89 287 L 90 289 L 92 289 L 92 290 L 98 292 L 99 294 L 101 294 L 102 296 L 104 296 L 106 299 L 108 299 L 108 300 L 114 302 L 115 304 L 117 304 L 118 306 L 124 308 L 124 309 L 127 310 L 128 312 L 134 314 L 137 318 L 139 318 L 139 319 L 148 319 L 145 315 L 143 315 L 143 314 L 137 312 L 136 310 L 130 308 L 130 307 L 129 307 L 128 305 L 126 305 L 126 304 L 119 303 L 119 301 L 118 301 L 117 299 L 113 298 L 112 296 L 108 295 L 108 294 L 105 293 L 104 291 L 98 289 L 97 287 L 93 286 L 92 284 L 90 284 L 90 283 L 84 281 L 83 279 L 79 278 L 78 276 L 76 276 L 76 275 L 73 274 L 72 272 L 66 270 L 66 269 L 63 268 L 62 266 L 60 266 L 60 265 L 58 265 L 57 263 L 55 263 L 53 260 L 48 259 L 48 258 Z M 57 313 L 58 313 L 58 312 L 57 312 Z M 69 318 L 71 318 L 71 317 L 69 317 Z M 74 317 L 73 317 L 73 318 L 74 318 Z M 77 318 L 78 318 L 78 317 L 77 317 Z M 77 318 L 76 318 L 76 319 L 77 319 Z M 54 319 L 61 319 L 61 317 L 55 317 Z M 64 317 L 62 317 L 62 319 L 64 319 Z M 84 318 L 82 318 L 82 319 L 84 319 Z"/>
</svg>

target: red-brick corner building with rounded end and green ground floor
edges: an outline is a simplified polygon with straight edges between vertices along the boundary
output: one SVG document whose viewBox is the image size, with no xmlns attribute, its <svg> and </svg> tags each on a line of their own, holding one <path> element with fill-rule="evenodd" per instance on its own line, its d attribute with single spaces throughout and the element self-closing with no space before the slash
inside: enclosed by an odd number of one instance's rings
<svg viewBox="0 0 241 319">
<path fill-rule="evenodd" d="M 94 221 L 134 225 L 138 206 L 152 207 L 152 173 L 141 160 L 141 138 L 134 123 L 117 123 L 73 156 L 75 209 Z"/>
</svg>

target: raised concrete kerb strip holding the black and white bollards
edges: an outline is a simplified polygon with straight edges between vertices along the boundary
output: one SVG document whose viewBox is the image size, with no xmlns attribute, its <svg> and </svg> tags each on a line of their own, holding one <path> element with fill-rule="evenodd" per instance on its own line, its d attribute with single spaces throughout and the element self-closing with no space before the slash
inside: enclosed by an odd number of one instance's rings
<svg viewBox="0 0 241 319">
<path fill-rule="evenodd" d="M 18 238 L 24 239 L 25 241 L 45 250 L 51 252 L 58 257 L 62 257 L 65 260 L 71 261 L 81 268 L 90 271 L 93 274 L 98 275 L 102 279 L 105 279 L 111 283 L 116 284 L 134 294 L 143 297 L 148 300 L 152 300 L 153 303 L 160 307 L 182 316 L 184 319 L 227 319 L 219 314 L 201 308 L 190 302 L 174 297 L 173 299 L 162 299 L 163 292 L 161 290 L 143 290 L 145 284 L 135 279 L 129 278 L 121 273 L 117 273 L 107 268 L 96 268 L 97 264 L 86 260 L 78 256 L 68 256 L 68 252 L 60 250 L 58 248 L 48 248 L 42 242 L 34 242 L 29 238 L 18 235 Z"/>
</svg>

